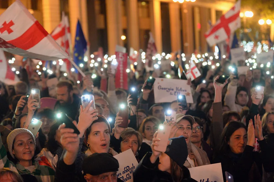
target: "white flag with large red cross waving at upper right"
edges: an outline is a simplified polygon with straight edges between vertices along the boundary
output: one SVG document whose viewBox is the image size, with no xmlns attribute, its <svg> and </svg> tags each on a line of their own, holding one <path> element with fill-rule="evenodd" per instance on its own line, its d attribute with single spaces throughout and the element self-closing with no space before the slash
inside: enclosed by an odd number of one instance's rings
<svg viewBox="0 0 274 182">
<path fill-rule="evenodd" d="M 236 4 L 227 13 L 221 16 L 212 28 L 206 32 L 205 37 L 209 46 L 220 43 L 230 38 L 230 35 L 241 27 L 241 18 L 239 16 L 241 1 Z"/>
</svg>

